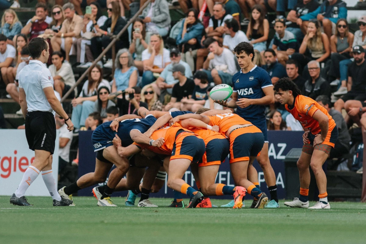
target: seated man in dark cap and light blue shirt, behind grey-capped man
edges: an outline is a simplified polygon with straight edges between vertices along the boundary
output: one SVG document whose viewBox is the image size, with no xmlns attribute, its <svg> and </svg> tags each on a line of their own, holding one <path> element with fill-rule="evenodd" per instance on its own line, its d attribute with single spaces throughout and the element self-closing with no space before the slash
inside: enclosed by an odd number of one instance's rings
<svg viewBox="0 0 366 244">
<path fill-rule="evenodd" d="M 172 88 L 173 88 L 174 84 L 176 84 L 178 82 L 178 80 L 176 80 L 173 77 L 173 73 L 170 71 L 174 64 L 177 64 L 177 63 L 182 64 L 184 66 L 184 68 L 186 69 L 186 71 L 184 73 L 186 75 L 186 77 L 188 77 L 188 78 L 193 77 L 191 68 L 189 67 L 189 65 L 186 62 L 183 62 L 181 60 L 180 52 L 177 48 L 172 48 L 170 50 L 170 60 L 171 60 L 171 63 L 168 64 L 164 68 L 163 72 L 161 72 L 160 76 L 156 80 L 156 84 L 154 84 L 154 83 L 152 84 L 154 91 L 159 96 L 160 96 L 161 92 L 163 92 L 163 91 L 164 91 L 163 93 L 166 92 L 168 94 L 172 94 Z M 161 96 L 161 97 L 164 97 L 164 94 L 162 94 L 162 95 L 163 96 Z"/>
</svg>

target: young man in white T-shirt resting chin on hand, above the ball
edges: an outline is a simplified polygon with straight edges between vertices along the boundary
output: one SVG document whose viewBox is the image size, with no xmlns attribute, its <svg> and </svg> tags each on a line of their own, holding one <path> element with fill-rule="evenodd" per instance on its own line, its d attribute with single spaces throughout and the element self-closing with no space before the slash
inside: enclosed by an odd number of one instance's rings
<svg viewBox="0 0 366 244">
<path fill-rule="evenodd" d="M 220 47 L 212 37 L 205 40 L 205 47 L 210 53 L 203 63 L 203 71 L 208 75 L 209 82 L 219 84 L 232 84 L 232 76 L 238 72 L 234 53 L 227 48 Z"/>
</svg>

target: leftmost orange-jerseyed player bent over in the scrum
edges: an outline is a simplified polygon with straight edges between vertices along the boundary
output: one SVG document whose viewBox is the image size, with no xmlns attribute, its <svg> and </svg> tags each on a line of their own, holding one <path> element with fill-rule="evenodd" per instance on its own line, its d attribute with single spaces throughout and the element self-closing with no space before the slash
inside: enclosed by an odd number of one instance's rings
<svg viewBox="0 0 366 244">
<path fill-rule="evenodd" d="M 141 115 L 144 117 L 144 113 Z M 172 118 L 170 114 L 166 114 L 163 117 Z M 150 145 L 132 144 L 124 148 L 120 144 L 120 138 L 116 136 L 113 140 L 113 144 L 117 144 L 118 154 L 124 156 L 134 155 L 145 148 L 156 154 L 171 155 L 169 160 L 164 160 L 164 168 L 169 175 L 167 185 L 175 191 L 190 196 L 191 201 L 188 207 L 196 207 L 197 204 L 203 200 L 203 195 L 182 180 L 182 177 L 190 164 L 192 162 L 197 163 L 205 153 L 205 143 L 203 142 L 203 139 L 190 130 L 184 129 L 179 123 L 172 126 L 167 124 L 160 129 L 155 130 L 150 138 L 153 139 L 150 141 Z M 154 139 L 158 138 L 164 138 L 164 144 L 159 150 L 155 150 L 151 144 Z"/>
</svg>

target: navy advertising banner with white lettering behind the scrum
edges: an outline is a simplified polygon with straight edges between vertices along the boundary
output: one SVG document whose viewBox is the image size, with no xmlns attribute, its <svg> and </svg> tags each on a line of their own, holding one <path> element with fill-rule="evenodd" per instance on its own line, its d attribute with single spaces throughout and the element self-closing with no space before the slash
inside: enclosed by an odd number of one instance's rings
<svg viewBox="0 0 366 244">
<path fill-rule="evenodd" d="M 92 131 L 81 131 L 79 132 L 79 177 L 84 174 L 94 172 L 95 169 L 95 153 L 93 149 L 93 145 L 91 143 L 91 134 Z M 302 148 L 302 134 L 303 132 L 294 132 L 294 131 L 268 131 L 268 155 L 270 163 L 273 167 L 273 170 L 276 174 L 276 184 L 277 184 L 277 193 L 279 199 L 286 198 L 285 191 L 285 168 L 284 162 L 285 155 L 290 151 L 291 148 Z M 259 166 L 257 161 L 254 161 L 254 167 L 258 171 L 259 184 L 261 186 L 262 191 L 265 191 L 269 196 L 269 192 L 267 189 L 267 185 L 264 180 L 263 170 Z M 114 166 L 113 166 L 114 168 Z M 112 168 L 112 169 L 113 169 Z M 107 179 L 108 180 L 108 179 Z M 195 187 L 194 177 L 188 169 L 186 174 L 184 174 L 183 180 L 185 180 L 188 184 Z M 166 180 L 165 180 L 166 181 Z M 225 185 L 234 186 L 234 180 L 231 176 L 230 165 L 228 158 L 224 163 L 220 165 L 219 173 L 216 176 L 216 183 L 222 183 Z M 102 183 L 101 185 L 103 185 Z M 91 190 L 94 186 L 91 186 L 86 189 L 82 189 L 78 192 L 79 196 L 92 196 Z M 115 192 L 113 196 L 127 196 L 127 191 L 124 192 Z M 151 194 L 152 197 L 173 197 L 172 189 L 165 185 L 158 192 Z M 231 198 L 231 196 L 220 196 L 213 198 Z M 246 196 L 246 199 L 250 199 L 250 196 Z"/>
</svg>

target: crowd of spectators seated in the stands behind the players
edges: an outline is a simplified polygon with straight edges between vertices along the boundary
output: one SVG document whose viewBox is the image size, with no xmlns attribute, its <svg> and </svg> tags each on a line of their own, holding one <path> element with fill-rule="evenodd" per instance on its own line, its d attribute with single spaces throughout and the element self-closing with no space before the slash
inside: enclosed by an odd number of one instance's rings
<svg viewBox="0 0 366 244">
<path fill-rule="evenodd" d="M 125 11 L 132 2 L 70 0 L 63 4 L 59 0 L 49 9 L 38 1 L 35 15 L 25 26 L 14 10 L 5 10 L 0 68 L 7 96 L 19 103 L 17 74 L 29 62 L 27 43 L 34 37 L 49 42 L 47 65 L 54 90 L 65 96 L 75 84 L 73 69 L 90 67 L 127 25 Z M 146 0 L 139 2 L 141 7 Z M 167 0 L 147 4 L 115 42 L 115 55 L 109 49 L 91 67 L 82 89 L 68 95 L 76 132 L 94 129 L 117 115 L 135 114 L 141 106 L 193 112 L 202 107 L 223 108 L 210 99 L 209 92 L 214 85 L 232 84 L 232 76 L 240 70 L 234 47 L 242 41 L 253 45 L 253 62 L 268 72 L 273 84 L 289 77 L 303 95 L 320 101 L 336 117 L 344 109 L 345 119 L 336 121 L 344 134 L 352 122 L 366 127 L 366 16 L 358 19 L 359 30 L 352 34 L 344 1 L 206 0 L 203 15 L 204 1 L 178 2 L 186 17 L 175 25 Z M 268 21 L 268 12 L 276 12 L 273 22 Z M 270 28 L 275 30 L 273 38 Z M 71 63 L 72 56 L 76 62 Z M 112 66 L 114 73 L 104 76 Z M 279 103 L 268 107 L 267 115 L 268 130 L 302 130 Z M 349 149 L 348 139 L 340 138 L 343 151 Z"/>
</svg>

